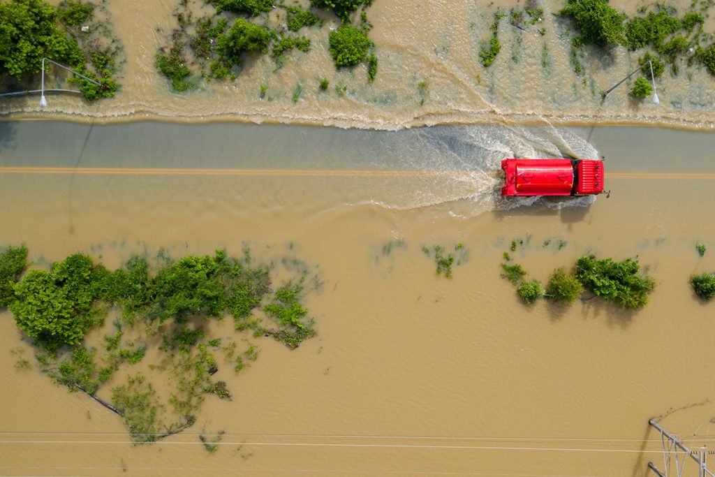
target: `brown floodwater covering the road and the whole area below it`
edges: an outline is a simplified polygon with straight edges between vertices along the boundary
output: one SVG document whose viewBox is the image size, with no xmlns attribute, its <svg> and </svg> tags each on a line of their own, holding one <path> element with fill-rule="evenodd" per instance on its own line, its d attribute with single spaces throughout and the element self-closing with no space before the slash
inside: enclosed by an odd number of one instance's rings
<svg viewBox="0 0 715 477">
<path fill-rule="evenodd" d="M 38 267 L 250 245 L 290 248 L 325 282 L 307 302 L 318 334 L 297 350 L 212 325 L 260 357 L 219 371 L 231 402 L 209 396 L 192 428 L 144 446 L 86 395 L 14 368 L 32 352 L 2 313 L 0 473 L 644 476 L 662 466 L 654 416 L 710 446 L 713 305 L 688 277 L 715 269 L 695 250 L 715 244 L 711 144 L 647 128 L 0 123 L 0 245 L 25 243 Z M 501 158 L 566 154 L 605 155 L 611 197 L 498 197 Z M 651 303 L 528 308 L 499 277 L 515 238 L 541 280 L 587 252 L 637 255 Z M 458 242 L 467 259 L 435 275 L 421 248 Z M 219 430 L 209 454 L 198 435 Z"/>
</svg>

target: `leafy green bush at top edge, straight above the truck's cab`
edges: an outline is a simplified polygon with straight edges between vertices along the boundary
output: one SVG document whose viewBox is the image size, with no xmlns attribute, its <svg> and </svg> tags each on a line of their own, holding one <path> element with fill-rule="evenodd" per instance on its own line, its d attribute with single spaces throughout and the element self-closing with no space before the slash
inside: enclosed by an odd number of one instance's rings
<svg viewBox="0 0 715 477">
<path fill-rule="evenodd" d="M 626 14 L 608 5 L 608 0 L 568 0 L 558 12 L 573 20 L 578 44 L 612 46 L 625 41 Z"/>
</svg>

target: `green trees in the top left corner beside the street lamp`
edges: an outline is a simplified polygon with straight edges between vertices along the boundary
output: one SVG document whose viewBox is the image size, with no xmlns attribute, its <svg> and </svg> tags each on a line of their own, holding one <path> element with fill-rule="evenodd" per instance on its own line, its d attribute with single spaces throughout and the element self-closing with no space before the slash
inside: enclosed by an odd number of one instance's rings
<svg viewBox="0 0 715 477">
<path fill-rule="evenodd" d="M 0 3 L 0 75 L 9 77 L 14 89 L 31 89 L 39 82 L 42 59 L 49 58 L 102 85 L 66 79 L 79 84 L 87 101 L 114 96 L 122 46 L 107 16 L 104 4 L 84 0 L 63 0 L 57 6 L 43 0 Z M 46 74 L 55 70 L 50 64 L 45 68 Z"/>
</svg>

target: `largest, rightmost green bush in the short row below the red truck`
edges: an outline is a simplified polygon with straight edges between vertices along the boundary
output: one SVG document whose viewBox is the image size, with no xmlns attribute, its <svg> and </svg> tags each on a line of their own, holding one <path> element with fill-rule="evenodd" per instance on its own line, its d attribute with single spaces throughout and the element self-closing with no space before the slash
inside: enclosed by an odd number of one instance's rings
<svg viewBox="0 0 715 477">
<path fill-rule="evenodd" d="M 610 258 L 597 260 L 595 255 L 584 255 L 576 262 L 576 277 L 594 295 L 621 308 L 637 310 L 648 303 L 656 286 L 655 280 L 639 273 L 639 269 L 636 259 L 614 262 Z"/>
</svg>

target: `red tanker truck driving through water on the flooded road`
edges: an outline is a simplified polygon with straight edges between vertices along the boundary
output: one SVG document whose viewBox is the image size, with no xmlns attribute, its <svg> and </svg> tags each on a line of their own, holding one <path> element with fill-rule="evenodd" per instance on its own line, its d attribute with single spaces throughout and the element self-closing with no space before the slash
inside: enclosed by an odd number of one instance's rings
<svg viewBox="0 0 715 477">
<path fill-rule="evenodd" d="M 603 161 L 503 159 L 501 195 L 595 195 L 603 192 Z"/>
</svg>

